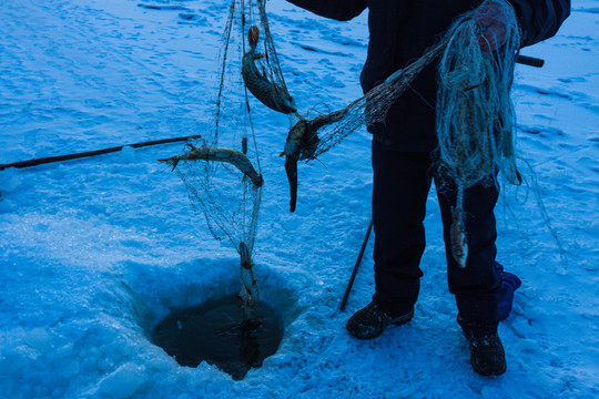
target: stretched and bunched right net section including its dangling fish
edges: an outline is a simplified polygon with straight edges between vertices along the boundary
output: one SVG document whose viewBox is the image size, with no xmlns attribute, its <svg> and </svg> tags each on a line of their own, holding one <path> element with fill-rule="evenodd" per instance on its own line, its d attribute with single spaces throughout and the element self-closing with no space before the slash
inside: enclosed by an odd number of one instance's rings
<svg viewBox="0 0 599 399">
<path fill-rule="evenodd" d="M 495 50 L 480 43 L 479 17 L 489 4 L 505 23 L 505 40 Z M 292 212 L 297 200 L 297 161 L 316 158 L 365 124 L 384 123 L 390 106 L 408 90 L 409 83 L 440 58 L 436 105 L 439 144 L 435 155 L 439 173 L 457 185 L 451 246 L 454 258 L 464 267 L 468 257 L 465 191 L 475 184 L 497 184 L 499 172 L 511 183 L 520 182 L 515 163 L 514 109 L 509 96 L 519 44 L 512 7 L 504 0 L 487 0 L 478 9 L 460 16 L 419 59 L 345 109 L 313 120 L 301 117 L 290 131 L 283 152 Z"/>
</svg>

